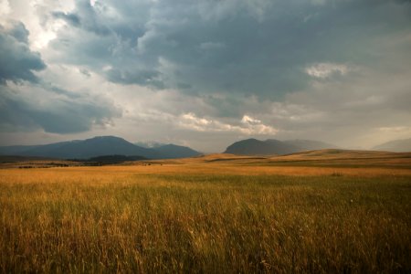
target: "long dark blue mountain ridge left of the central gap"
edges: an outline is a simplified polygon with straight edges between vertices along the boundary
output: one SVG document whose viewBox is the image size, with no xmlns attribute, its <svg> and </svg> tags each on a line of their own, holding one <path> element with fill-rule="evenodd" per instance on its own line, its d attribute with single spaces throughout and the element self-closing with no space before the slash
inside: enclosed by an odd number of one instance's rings
<svg viewBox="0 0 411 274">
<path fill-rule="evenodd" d="M 57 159 L 89 159 L 102 155 L 141 156 L 147 159 L 194 157 L 201 153 L 175 145 L 164 144 L 144 148 L 114 136 L 100 136 L 86 140 L 55 142 L 44 145 L 16 145 L 0 147 L 1 155 L 36 156 Z"/>
</svg>

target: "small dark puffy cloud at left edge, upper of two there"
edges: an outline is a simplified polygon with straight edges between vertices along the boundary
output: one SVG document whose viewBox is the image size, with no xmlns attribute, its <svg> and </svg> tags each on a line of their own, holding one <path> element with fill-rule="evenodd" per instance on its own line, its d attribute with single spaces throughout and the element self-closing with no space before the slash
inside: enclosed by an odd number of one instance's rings
<svg viewBox="0 0 411 274">
<path fill-rule="evenodd" d="M 33 70 L 42 70 L 46 64 L 30 50 L 26 27 L 20 22 L 9 25 L 0 25 L 0 84 L 5 84 L 5 80 L 37 82 Z"/>
</svg>

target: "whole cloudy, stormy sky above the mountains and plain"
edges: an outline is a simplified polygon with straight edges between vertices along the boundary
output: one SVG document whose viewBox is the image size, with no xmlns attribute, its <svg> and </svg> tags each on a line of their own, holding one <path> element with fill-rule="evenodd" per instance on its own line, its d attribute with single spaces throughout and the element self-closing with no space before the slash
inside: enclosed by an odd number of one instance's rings
<svg viewBox="0 0 411 274">
<path fill-rule="evenodd" d="M 411 1 L 0 0 L 0 145 L 411 137 Z"/>
</svg>

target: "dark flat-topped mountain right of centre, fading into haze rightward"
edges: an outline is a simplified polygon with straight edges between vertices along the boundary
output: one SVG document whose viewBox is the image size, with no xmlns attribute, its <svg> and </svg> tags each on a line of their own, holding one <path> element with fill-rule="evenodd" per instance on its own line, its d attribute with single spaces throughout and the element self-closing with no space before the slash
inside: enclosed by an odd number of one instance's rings
<svg viewBox="0 0 411 274">
<path fill-rule="evenodd" d="M 269 139 L 266 141 L 259 141 L 257 139 L 247 139 L 229 145 L 224 153 L 241 155 L 283 155 L 330 148 L 337 148 L 337 146 L 326 142 L 311 140 L 279 141 Z"/>
</svg>

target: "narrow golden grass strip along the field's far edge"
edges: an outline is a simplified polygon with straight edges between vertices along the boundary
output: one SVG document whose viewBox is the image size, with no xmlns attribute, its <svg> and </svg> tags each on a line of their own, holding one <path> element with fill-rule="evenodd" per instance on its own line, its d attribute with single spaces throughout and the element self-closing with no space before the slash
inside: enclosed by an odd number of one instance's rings
<svg viewBox="0 0 411 274">
<path fill-rule="evenodd" d="M 320 176 L 344 174 L 350 176 L 379 177 L 379 176 L 411 176 L 411 169 L 393 169 L 389 167 L 318 167 L 318 166 L 260 166 L 241 163 L 151 163 L 151 165 L 108 165 L 104 167 L 76 166 L 50 169 L 6 169 L 1 174 L 25 177 L 24 182 L 54 181 L 56 177 L 86 176 L 91 181 L 96 178 L 123 178 L 129 174 L 244 174 L 244 175 L 290 175 L 290 176 Z M 24 176 L 24 175 L 23 175 Z M 102 178 L 101 178 L 102 177 Z M 105 179 L 102 179 L 105 180 Z"/>
</svg>

